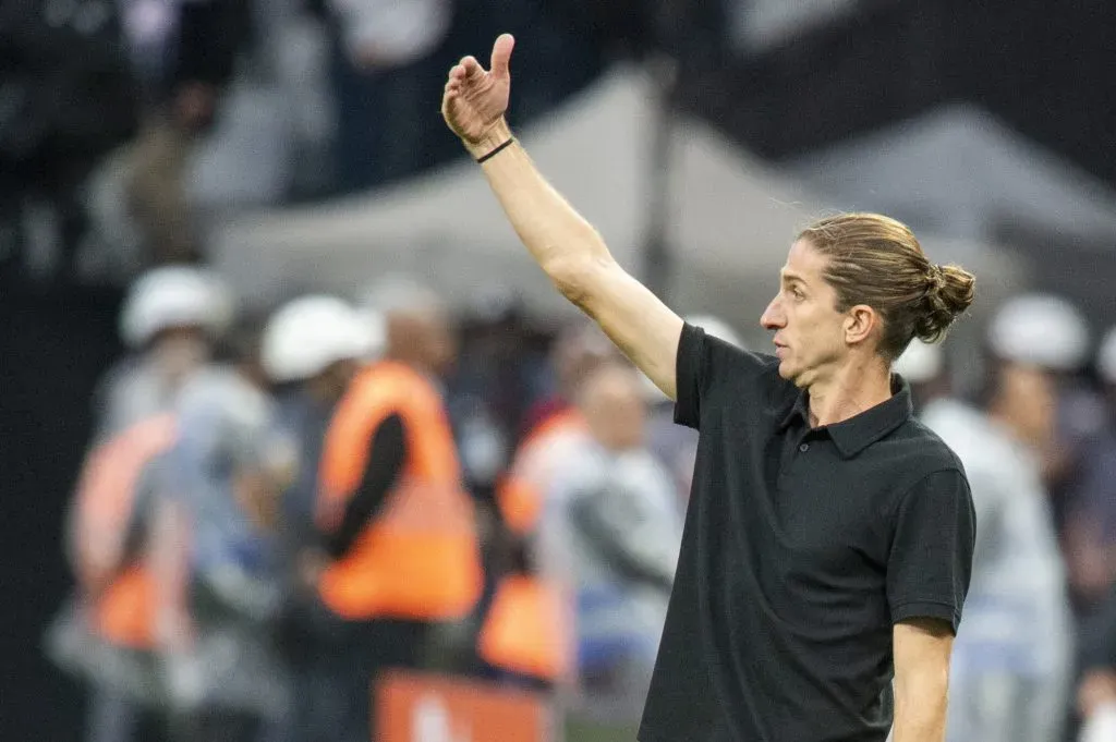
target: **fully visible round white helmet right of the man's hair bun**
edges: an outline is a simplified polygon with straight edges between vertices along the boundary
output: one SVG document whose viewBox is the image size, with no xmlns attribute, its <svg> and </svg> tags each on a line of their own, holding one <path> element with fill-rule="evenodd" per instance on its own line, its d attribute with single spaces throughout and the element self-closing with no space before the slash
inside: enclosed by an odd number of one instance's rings
<svg viewBox="0 0 1116 742">
<path fill-rule="evenodd" d="M 1010 299 L 1000 307 L 988 334 L 992 353 L 1004 360 L 1051 370 L 1074 370 L 1085 363 L 1089 328 L 1074 305 L 1048 293 Z"/>
</svg>

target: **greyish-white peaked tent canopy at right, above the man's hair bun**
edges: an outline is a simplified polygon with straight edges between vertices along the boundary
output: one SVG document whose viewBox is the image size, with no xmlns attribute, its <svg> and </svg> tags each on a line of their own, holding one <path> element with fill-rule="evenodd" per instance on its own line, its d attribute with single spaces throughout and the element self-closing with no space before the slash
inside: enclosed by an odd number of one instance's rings
<svg viewBox="0 0 1116 742">
<path fill-rule="evenodd" d="M 1116 192 L 968 105 L 804 155 L 788 171 L 843 208 L 963 239 L 987 239 L 1012 214 L 1068 234 L 1116 234 Z"/>
</svg>

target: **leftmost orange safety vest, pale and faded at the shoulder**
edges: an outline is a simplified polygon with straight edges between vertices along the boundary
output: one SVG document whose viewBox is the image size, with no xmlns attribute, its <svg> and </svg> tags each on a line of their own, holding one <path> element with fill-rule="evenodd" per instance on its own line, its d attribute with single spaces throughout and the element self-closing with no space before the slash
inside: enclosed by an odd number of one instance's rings
<svg viewBox="0 0 1116 742">
<path fill-rule="evenodd" d="M 78 582 L 92 601 L 90 628 L 121 646 L 155 645 L 155 580 L 144 563 L 122 560 L 140 476 L 176 434 L 170 414 L 136 423 L 94 449 L 78 481 L 73 534 Z"/>
</svg>

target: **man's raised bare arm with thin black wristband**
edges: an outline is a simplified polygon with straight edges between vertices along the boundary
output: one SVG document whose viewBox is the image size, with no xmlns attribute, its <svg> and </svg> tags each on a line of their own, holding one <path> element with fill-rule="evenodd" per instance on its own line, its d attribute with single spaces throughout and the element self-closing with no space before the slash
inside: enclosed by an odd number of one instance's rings
<svg viewBox="0 0 1116 742">
<path fill-rule="evenodd" d="M 512 139 L 503 115 L 511 88 L 508 62 L 513 46 L 507 33 L 496 40 L 489 71 L 473 57 L 454 66 L 445 85 L 442 115 L 469 152 L 484 160 L 482 167 L 492 192 L 562 296 L 600 325 L 673 399 L 682 319 L 620 268 L 600 234 L 547 183 Z"/>
</svg>

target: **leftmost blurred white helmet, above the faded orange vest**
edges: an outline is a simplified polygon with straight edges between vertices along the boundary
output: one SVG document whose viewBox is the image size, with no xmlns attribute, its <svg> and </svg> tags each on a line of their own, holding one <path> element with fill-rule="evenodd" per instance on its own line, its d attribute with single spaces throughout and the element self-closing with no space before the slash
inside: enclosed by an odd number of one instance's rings
<svg viewBox="0 0 1116 742">
<path fill-rule="evenodd" d="M 201 327 L 218 335 L 231 321 L 232 297 L 214 273 L 193 266 L 165 266 L 132 286 L 119 331 L 126 345 L 138 348 L 172 327 Z"/>
</svg>

